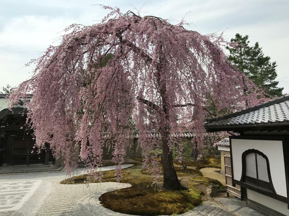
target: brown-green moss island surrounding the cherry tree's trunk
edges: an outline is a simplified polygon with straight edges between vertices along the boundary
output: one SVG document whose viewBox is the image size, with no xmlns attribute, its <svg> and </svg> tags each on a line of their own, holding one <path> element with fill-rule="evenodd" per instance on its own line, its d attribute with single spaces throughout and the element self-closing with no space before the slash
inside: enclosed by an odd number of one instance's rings
<svg viewBox="0 0 289 216">
<path fill-rule="evenodd" d="M 150 172 L 142 169 L 142 164 L 136 160 L 134 166 L 122 170 L 123 178 L 120 181 L 130 183 L 132 186 L 104 193 L 99 200 L 105 208 L 124 214 L 176 215 L 185 213 L 207 200 L 207 186 L 214 184 L 220 189 L 224 187 L 219 181 L 204 177 L 197 169 L 183 170 L 179 166 L 175 168 L 181 184 L 188 187 L 188 190 L 164 189 L 161 180 L 159 185 L 152 185 L 153 177 Z M 115 170 L 104 171 L 102 182 L 116 182 L 114 174 Z M 85 174 L 68 178 L 60 183 L 81 184 L 73 182 L 87 179 L 90 183 L 99 182 Z"/>
</svg>

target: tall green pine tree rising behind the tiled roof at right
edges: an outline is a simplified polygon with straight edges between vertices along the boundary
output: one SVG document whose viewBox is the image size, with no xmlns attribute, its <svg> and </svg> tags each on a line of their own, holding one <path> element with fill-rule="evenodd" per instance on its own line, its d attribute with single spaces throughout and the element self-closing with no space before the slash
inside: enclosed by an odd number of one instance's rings
<svg viewBox="0 0 289 216">
<path fill-rule="evenodd" d="M 262 88 L 268 97 L 281 96 L 283 88 L 278 88 L 279 82 L 275 81 L 276 62 L 271 63 L 271 58 L 264 56 L 258 42 L 253 47 L 249 46 L 248 38 L 248 35 L 242 37 L 236 34 L 235 38 L 231 39 L 232 46 L 227 46 L 230 52 L 228 60 Z"/>
</svg>

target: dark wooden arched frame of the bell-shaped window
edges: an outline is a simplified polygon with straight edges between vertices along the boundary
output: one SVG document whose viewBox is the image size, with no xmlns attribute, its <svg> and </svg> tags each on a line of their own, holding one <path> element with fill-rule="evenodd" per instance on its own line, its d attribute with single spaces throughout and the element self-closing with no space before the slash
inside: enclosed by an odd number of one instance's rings
<svg viewBox="0 0 289 216">
<path fill-rule="evenodd" d="M 271 178 L 271 172 L 270 172 L 270 165 L 269 165 L 269 159 L 268 157 L 261 151 L 258 151 L 256 149 L 248 149 L 246 151 L 243 152 L 242 154 L 242 176 L 241 176 L 241 182 L 246 182 L 245 181 L 245 178 L 246 178 L 246 156 L 248 154 L 251 154 L 251 153 L 254 153 L 254 154 L 259 154 L 260 156 L 262 156 L 265 160 L 266 160 L 266 165 L 267 165 L 267 173 L 268 173 L 268 179 L 269 179 L 269 183 L 270 183 L 270 186 L 271 186 L 271 189 L 268 189 L 266 188 L 267 190 L 271 190 L 273 194 L 276 194 L 276 191 L 274 189 L 274 186 L 273 186 L 273 183 L 272 183 L 272 178 Z M 260 180 L 258 179 L 258 168 L 257 168 L 257 157 L 255 158 L 256 160 L 256 174 L 257 174 L 257 181 L 263 181 L 263 180 Z M 264 187 L 263 187 L 264 188 Z"/>
</svg>

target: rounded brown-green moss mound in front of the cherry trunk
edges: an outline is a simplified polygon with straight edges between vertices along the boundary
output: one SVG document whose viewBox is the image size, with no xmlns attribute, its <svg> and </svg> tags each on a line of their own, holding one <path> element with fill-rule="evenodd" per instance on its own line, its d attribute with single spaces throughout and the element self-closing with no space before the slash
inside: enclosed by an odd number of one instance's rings
<svg viewBox="0 0 289 216">
<path fill-rule="evenodd" d="M 182 214 L 202 202 L 198 190 L 159 190 L 147 182 L 107 192 L 99 200 L 105 208 L 130 215 Z"/>
</svg>

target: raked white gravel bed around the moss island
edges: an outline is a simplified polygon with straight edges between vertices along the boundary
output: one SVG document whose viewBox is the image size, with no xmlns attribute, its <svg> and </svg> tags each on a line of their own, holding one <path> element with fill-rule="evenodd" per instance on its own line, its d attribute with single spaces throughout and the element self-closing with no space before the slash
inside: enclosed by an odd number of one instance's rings
<svg viewBox="0 0 289 216">
<path fill-rule="evenodd" d="M 127 168 L 132 164 L 125 164 Z M 101 170 L 112 170 L 106 166 Z M 84 174 L 79 168 L 74 175 Z M 23 173 L 0 175 L 0 215 L 2 216 L 131 216 L 105 209 L 98 197 L 108 191 L 130 187 L 130 184 L 104 182 L 78 185 L 63 185 L 65 172 Z M 231 216 L 216 202 L 206 201 L 182 216 Z"/>
</svg>

